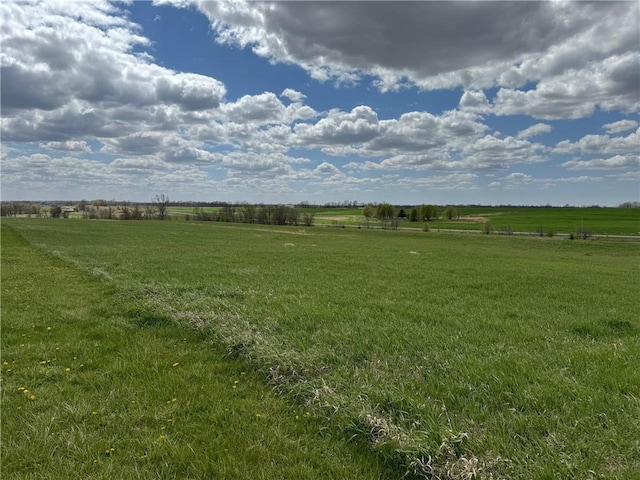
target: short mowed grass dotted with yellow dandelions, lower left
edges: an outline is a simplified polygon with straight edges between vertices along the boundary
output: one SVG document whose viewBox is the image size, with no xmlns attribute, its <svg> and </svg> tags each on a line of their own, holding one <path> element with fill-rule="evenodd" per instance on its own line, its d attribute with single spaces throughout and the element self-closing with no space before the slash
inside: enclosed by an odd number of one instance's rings
<svg viewBox="0 0 640 480">
<path fill-rule="evenodd" d="M 3 225 L 3 480 L 385 478 L 241 362 L 116 292 Z"/>
</svg>

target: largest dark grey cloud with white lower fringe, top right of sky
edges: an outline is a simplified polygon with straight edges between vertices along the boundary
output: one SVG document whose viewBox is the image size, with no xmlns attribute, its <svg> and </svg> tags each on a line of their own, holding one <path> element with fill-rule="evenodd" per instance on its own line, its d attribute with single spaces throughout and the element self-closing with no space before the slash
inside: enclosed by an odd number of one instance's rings
<svg viewBox="0 0 640 480">
<path fill-rule="evenodd" d="M 519 87 L 635 51 L 639 28 L 634 2 L 190 3 L 220 43 L 382 89 Z"/>
</svg>

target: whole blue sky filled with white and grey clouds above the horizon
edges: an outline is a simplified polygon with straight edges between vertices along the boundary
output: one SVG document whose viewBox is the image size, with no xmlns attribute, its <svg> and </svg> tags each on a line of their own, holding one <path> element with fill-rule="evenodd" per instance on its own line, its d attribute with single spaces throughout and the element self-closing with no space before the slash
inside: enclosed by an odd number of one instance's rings
<svg viewBox="0 0 640 480">
<path fill-rule="evenodd" d="M 637 201 L 639 6 L 5 1 L 2 199 Z"/>
</svg>

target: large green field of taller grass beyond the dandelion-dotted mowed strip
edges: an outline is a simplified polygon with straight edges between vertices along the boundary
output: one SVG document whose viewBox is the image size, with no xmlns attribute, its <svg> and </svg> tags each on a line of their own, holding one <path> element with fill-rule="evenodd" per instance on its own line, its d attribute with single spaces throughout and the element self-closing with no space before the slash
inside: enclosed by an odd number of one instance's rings
<svg viewBox="0 0 640 480">
<path fill-rule="evenodd" d="M 5 222 L 409 476 L 640 478 L 637 242 Z"/>
</svg>

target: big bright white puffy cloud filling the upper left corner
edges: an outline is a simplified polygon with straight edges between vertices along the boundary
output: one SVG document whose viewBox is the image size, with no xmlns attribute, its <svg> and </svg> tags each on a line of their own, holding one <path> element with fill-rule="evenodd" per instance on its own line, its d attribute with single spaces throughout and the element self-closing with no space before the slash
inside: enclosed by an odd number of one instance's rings
<svg viewBox="0 0 640 480">
<path fill-rule="evenodd" d="M 166 127 L 171 117 L 216 109 L 226 93 L 216 79 L 135 53 L 149 41 L 111 3 L 3 2 L 0 14 L 5 140 L 64 142 Z"/>
</svg>

